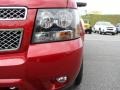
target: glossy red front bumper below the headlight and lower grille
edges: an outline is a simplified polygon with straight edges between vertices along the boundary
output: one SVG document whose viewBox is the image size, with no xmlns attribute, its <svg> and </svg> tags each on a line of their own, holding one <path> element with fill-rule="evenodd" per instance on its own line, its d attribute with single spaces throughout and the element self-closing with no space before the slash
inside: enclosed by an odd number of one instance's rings
<svg viewBox="0 0 120 90">
<path fill-rule="evenodd" d="M 27 52 L 0 55 L 0 87 L 58 90 L 75 80 L 82 63 L 81 39 L 30 45 Z M 11 62 L 10 62 L 11 61 Z M 56 78 L 68 76 L 63 84 Z"/>
</svg>

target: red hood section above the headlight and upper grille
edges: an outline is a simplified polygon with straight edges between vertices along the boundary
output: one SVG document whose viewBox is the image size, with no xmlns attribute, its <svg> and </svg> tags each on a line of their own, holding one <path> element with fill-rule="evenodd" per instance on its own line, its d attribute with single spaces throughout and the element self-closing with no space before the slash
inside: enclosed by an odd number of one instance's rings
<svg viewBox="0 0 120 90">
<path fill-rule="evenodd" d="M 0 0 L 0 6 L 27 6 L 28 8 L 67 7 L 68 0 Z"/>
</svg>

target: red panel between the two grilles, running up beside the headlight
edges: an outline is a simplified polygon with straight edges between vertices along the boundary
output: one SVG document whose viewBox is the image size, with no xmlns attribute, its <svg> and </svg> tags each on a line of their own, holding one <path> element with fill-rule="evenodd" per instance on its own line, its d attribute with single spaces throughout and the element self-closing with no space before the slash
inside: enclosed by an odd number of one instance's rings
<svg viewBox="0 0 120 90">
<path fill-rule="evenodd" d="M 1 4 L 1 3 L 0 3 Z M 29 9 L 27 19 L 23 21 L 3 21 L 0 20 L 0 29 L 14 29 L 14 28 L 22 28 L 24 29 L 22 44 L 19 50 L 14 51 L 17 52 L 27 52 L 28 46 L 31 41 L 32 31 L 34 28 L 34 22 L 36 20 L 37 9 Z M 4 52 L 0 52 L 3 55 Z M 11 52 L 7 52 L 4 54 L 8 54 Z"/>
</svg>

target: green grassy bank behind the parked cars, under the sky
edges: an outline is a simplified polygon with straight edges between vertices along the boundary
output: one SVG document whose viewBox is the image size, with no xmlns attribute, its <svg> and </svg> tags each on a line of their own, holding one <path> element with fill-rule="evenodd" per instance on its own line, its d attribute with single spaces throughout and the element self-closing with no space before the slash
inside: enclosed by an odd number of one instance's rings
<svg viewBox="0 0 120 90">
<path fill-rule="evenodd" d="M 120 23 L 120 15 L 94 15 L 89 14 L 82 16 L 83 19 L 88 19 L 91 26 L 93 26 L 97 21 L 109 21 L 112 24 L 116 25 Z"/>
</svg>

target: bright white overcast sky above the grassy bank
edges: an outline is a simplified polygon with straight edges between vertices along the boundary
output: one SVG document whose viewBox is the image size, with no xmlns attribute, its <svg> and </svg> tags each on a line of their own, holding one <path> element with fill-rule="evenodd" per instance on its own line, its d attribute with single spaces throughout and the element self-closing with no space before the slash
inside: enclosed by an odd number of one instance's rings
<svg viewBox="0 0 120 90">
<path fill-rule="evenodd" d="M 87 11 L 100 11 L 103 14 L 120 14 L 120 0 L 77 0 L 87 2 Z"/>
</svg>

